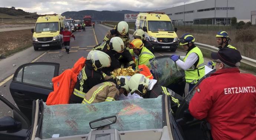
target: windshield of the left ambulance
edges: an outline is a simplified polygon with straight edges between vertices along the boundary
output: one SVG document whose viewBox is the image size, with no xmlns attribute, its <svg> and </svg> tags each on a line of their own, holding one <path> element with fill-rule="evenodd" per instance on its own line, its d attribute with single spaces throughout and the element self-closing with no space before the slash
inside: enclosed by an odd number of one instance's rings
<svg viewBox="0 0 256 140">
<path fill-rule="evenodd" d="M 59 30 L 59 23 L 58 22 L 36 23 L 35 32 L 58 31 L 58 30 Z"/>
</svg>

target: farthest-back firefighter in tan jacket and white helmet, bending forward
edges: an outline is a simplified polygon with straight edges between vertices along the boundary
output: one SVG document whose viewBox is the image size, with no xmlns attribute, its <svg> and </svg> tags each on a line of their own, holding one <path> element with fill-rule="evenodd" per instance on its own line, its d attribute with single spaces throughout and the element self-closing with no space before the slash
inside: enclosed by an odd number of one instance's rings
<svg viewBox="0 0 256 140">
<path fill-rule="evenodd" d="M 103 41 L 111 40 L 112 37 L 118 36 L 124 41 L 125 47 L 129 48 L 130 37 L 128 33 L 129 27 L 127 22 L 121 21 L 115 26 L 114 29 L 109 30 Z"/>
</svg>

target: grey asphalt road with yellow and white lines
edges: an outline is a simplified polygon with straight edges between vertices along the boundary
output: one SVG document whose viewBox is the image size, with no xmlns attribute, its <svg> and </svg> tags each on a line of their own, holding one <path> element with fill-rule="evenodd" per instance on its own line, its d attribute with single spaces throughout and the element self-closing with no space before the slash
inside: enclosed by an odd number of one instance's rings
<svg viewBox="0 0 256 140">
<path fill-rule="evenodd" d="M 0 96 L 4 96 L 7 100 L 9 100 L 12 104 L 15 104 L 10 91 L 9 85 L 12 80 L 12 74 L 15 70 L 25 63 L 30 62 L 54 62 L 60 64 L 59 74 L 64 70 L 73 67 L 73 64 L 80 58 L 86 57 L 89 51 L 96 44 L 101 43 L 104 39 L 106 32 L 111 29 L 111 27 L 107 27 L 101 24 L 95 24 L 95 29 L 92 27 L 86 27 L 86 31 L 76 32 L 74 33 L 76 40 L 71 38 L 70 41 L 70 54 L 65 52 L 65 47 L 62 49 L 57 48 L 45 48 L 39 49 L 38 51 L 34 51 L 33 47 L 29 49 L 23 50 L 19 53 L 14 54 L 13 56 L 7 57 L 6 59 L 0 59 Z M 131 37 L 132 39 L 132 37 Z M 156 51 L 155 56 L 163 56 L 163 55 L 171 55 L 177 54 L 181 56 L 185 56 L 184 52 L 176 51 L 172 53 L 170 51 Z M 205 60 L 207 64 L 209 60 Z M 187 90 L 187 89 L 186 89 Z M 186 93 L 186 91 L 185 91 Z M 0 117 L 2 116 L 12 116 L 12 111 L 10 111 L 9 107 L 5 106 L 0 102 Z"/>
</svg>

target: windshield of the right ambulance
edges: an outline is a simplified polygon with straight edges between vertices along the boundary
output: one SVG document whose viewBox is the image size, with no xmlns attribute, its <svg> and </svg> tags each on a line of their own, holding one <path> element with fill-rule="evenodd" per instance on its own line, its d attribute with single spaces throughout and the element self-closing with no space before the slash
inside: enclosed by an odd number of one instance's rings
<svg viewBox="0 0 256 140">
<path fill-rule="evenodd" d="M 148 21 L 149 31 L 174 31 L 171 21 Z"/>
</svg>

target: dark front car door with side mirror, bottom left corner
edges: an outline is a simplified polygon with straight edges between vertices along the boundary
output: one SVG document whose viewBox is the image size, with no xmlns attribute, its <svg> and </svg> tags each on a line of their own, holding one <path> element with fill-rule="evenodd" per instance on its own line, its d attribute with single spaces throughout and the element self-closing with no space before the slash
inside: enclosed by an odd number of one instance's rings
<svg viewBox="0 0 256 140">
<path fill-rule="evenodd" d="M 30 121 L 24 114 L 3 96 L 0 96 L 1 107 L 10 111 L 0 118 L 1 140 L 24 140 L 30 133 Z M 13 112 L 13 115 L 10 113 Z M 2 112 L 1 112 L 2 113 Z"/>
</svg>

